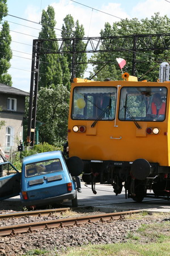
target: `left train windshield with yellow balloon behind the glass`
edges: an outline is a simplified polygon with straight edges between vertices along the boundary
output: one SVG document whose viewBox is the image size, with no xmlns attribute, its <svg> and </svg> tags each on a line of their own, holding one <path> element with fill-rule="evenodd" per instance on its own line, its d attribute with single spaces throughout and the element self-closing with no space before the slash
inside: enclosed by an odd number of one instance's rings
<svg viewBox="0 0 170 256">
<path fill-rule="evenodd" d="M 71 118 L 113 120 L 116 96 L 115 87 L 75 87 Z"/>
</svg>

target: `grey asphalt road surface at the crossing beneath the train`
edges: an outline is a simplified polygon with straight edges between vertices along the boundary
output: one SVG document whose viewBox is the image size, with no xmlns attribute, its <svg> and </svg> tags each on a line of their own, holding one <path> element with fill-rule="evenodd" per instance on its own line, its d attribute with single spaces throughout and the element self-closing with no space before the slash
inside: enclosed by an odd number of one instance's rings
<svg viewBox="0 0 170 256">
<path fill-rule="evenodd" d="M 96 184 L 96 195 L 92 192 L 91 185 L 82 185 L 82 193 L 77 193 L 78 196 L 78 205 L 79 207 L 83 206 L 93 206 L 94 210 L 101 210 L 103 212 L 114 212 L 119 210 L 131 210 L 131 209 L 168 209 L 170 211 L 170 201 L 162 199 L 150 199 L 145 198 L 142 203 L 136 203 L 133 199 L 125 199 L 124 188 L 120 195 L 115 195 L 113 192 L 112 185 L 107 184 Z M 2 203 L 6 203 L 7 209 L 12 205 L 17 207 L 17 204 L 20 205 L 20 197 L 15 196 L 11 199 L 6 199 L 0 202 L 0 209 L 2 208 Z M 63 203 L 63 206 L 71 207 L 71 201 Z"/>
</svg>

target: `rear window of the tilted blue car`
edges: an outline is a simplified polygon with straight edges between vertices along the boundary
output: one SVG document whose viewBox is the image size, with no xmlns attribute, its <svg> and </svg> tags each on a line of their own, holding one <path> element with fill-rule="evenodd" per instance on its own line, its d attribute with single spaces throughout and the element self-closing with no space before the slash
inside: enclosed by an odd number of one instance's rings
<svg viewBox="0 0 170 256">
<path fill-rule="evenodd" d="M 62 170 L 62 165 L 59 159 L 30 163 L 25 166 L 25 177 L 49 174 L 50 172 L 58 172 Z"/>
</svg>

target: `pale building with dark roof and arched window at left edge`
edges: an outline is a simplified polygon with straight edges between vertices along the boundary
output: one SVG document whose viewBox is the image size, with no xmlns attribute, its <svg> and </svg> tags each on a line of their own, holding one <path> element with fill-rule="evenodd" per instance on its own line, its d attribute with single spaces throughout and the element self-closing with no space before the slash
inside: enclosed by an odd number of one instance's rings
<svg viewBox="0 0 170 256">
<path fill-rule="evenodd" d="M 16 150 L 23 139 L 26 96 L 29 96 L 29 93 L 0 84 L 0 121 L 5 121 L 0 130 L 0 144 L 5 152 L 9 152 L 11 148 Z"/>
</svg>

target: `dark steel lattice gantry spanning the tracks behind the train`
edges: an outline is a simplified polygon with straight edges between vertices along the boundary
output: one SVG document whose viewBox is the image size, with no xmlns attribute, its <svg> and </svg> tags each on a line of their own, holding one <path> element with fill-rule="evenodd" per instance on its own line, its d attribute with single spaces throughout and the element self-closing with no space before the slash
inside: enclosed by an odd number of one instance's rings
<svg viewBox="0 0 170 256">
<path fill-rule="evenodd" d="M 83 44 L 80 44 L 80 42 L 83 42 Z M 77 45 L 79 47 L 76 48 Z M 33 146 L 35 142 L 37 92 L 41 55 L 71 54 L 71 80 L 73 81 L 75 77 L 75 65 L 78 64 L 75 63 L 75 56 L 78 53 L 129 51 L 132 54 L 132 75 L 135 76 L 137 52 L 155 50 L 164 51 L 165 49 L 170 49 L 170 34 L 33 40 L 27 142 L 30 146 Z"/>
</svg>

